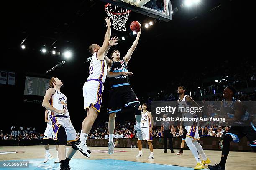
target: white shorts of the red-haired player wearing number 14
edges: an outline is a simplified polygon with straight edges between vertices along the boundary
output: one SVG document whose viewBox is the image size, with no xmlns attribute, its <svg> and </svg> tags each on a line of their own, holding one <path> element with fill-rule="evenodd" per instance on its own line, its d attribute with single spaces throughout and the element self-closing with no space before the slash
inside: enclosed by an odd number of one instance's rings
<svg viewBox="0 0 256 170">
<path fill-rule="evenodd" d="M 51 119 L 52 121 L 52 128 L 54 133 L 56 134 L 56 137 L 58 139 L 58 130 L 59 127 L 63 126 L 66 130 L 67 135 L 67 142 L 73 142 L 77 141 L 77 132 L 74 129 L 72 123 L 69 121 L 69 118 L 67 116 L 54 116 Z"/>
</svg>

